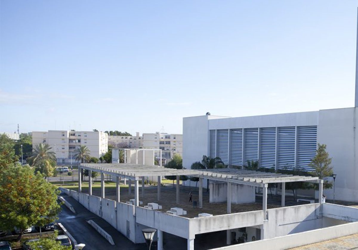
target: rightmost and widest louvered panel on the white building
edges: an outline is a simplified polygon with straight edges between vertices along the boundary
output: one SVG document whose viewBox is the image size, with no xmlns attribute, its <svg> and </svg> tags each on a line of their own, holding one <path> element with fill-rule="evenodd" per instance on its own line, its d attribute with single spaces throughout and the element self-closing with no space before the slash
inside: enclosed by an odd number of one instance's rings
<svg viewBox="0 0 358 250">
<path fill-rule="evenodd" d="M 317 126 L 297 127 L 297 166 L 303 170 L 313 170 L 308 164 L 316 156 Z"/>
</svg>

